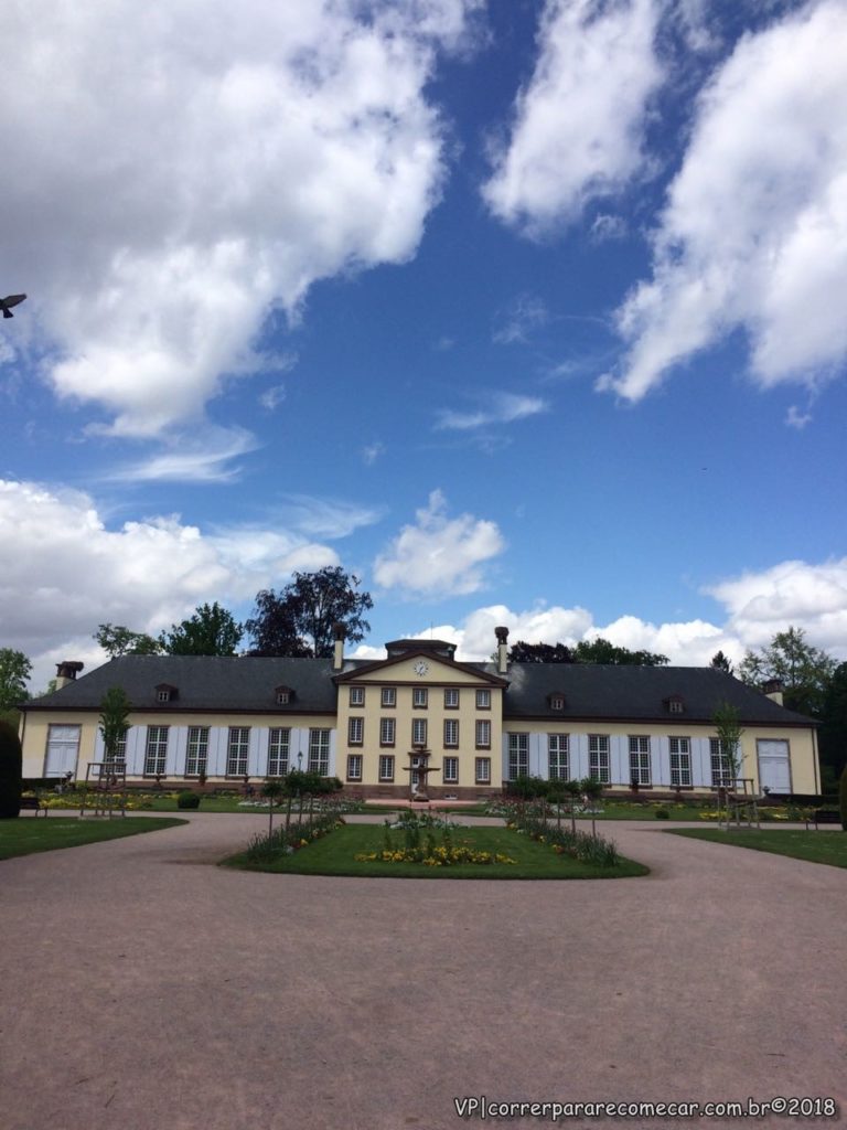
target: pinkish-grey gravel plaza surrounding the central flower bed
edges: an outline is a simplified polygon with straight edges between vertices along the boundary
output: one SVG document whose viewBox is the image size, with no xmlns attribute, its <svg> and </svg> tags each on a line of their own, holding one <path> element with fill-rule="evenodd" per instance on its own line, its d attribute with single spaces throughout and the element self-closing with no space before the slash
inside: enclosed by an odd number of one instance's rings
<svg viewBox="0 0 847 1130">
<path fill-rule="evenodd" d="M 215 866 L 261 827 L 0 862 L 3 1130 L 440 1130 L 479 1096 L 847 1112 L 847 871 L 637 824 L 602 831 L 640 879 Z"/>
</svg>

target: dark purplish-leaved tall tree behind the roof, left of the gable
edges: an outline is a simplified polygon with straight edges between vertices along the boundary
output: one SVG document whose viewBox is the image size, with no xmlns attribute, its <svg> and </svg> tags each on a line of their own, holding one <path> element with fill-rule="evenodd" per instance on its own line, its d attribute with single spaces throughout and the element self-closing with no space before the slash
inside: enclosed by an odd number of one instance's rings
<svg viewBox="0 0 847 1130">
<path fill-rule="evenodd" d="M 256 596 L 255 615 L 247 620 L 254 653 L 264 655 L 332 655 L 335 624 L 343 625 L 351 643 L 364 640 L 370 625 L 365 614 L 374 607 L 360 581 L 339 565 L 316 573 L 295 573 L 279 596 L 265 590 Z"/>
</svg>

